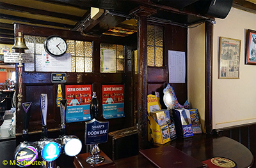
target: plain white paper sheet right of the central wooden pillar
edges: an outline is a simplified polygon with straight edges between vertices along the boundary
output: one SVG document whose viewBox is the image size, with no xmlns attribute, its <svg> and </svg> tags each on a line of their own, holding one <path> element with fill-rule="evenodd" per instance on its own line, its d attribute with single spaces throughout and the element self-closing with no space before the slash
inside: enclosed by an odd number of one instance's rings
<svg viewBox="0 0 256 168">
<path fill-rule="evenodd" d="M 169 83 L 185 83 L 185 52 L 168 51 Z"/>
</svg>

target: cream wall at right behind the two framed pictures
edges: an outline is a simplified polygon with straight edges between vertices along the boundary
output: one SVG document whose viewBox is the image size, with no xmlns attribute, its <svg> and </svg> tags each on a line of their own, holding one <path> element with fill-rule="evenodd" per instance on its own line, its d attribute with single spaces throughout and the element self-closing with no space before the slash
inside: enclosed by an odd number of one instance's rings
<svg viewBox="0 0 256 168">
<path fill-rule="evenodd" d="M 227 18 L 216 18 L 212 65 L 214 129 L 256 122 L 256 66 L 244 64 L 246 29 L 256 31 L 256 14 L 232 8 Z M 220 37 L 241 40 L 239 79 L 218 79 Z"/>
</svg>

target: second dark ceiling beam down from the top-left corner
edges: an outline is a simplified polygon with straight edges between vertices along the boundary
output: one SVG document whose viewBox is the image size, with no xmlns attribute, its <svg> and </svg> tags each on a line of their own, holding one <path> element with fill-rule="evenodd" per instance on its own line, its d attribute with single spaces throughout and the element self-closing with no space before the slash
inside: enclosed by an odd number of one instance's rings
<svg viewBox="0 0 256 168">
<path fill-rule="evenodd" d="M 61 23 L 57 23 L 57 22 L 49 22 L 49 21 L 45 21 L 45 20 L 37 20 L 34 18 L 16 17 L 13 15 L 6 15 L 6 14 L 1 14 L 0 18 L 18 21 L 18 22 L 28 22 L 30 24 L 41 24 L 41 25 L 52 25 L 52 26 L 56 26 L 56 27 L 67 27 L 70 29 L 72 29 L 74 27 L 74 25 L 61 24 Z"/>
</svg>

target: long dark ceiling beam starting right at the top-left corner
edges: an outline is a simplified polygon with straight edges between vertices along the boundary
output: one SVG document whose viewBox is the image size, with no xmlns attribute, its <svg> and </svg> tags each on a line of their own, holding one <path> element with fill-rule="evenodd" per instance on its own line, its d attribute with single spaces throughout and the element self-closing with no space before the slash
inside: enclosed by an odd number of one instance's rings
<svg viewBox="0 0 256 168">
<path fill-rule="evenodd" d="M 82 20 L 81 17 L 77 17 L 75 15 L 68 15 L 65 13 L 57 13 L 54 11 L 47 11 L 47 10 L 38 10 L 38 9 L 34 9 L 34 8 L 28 8 L 25 6 L 18 6 L 18 5 L 14 5 L 14 4 L 7 4 L 7 3 L 1 3 L 1 2 L 0 2 L 0 9 L 18 11 L 18 12 L 22 12 L 22 13 L 28 12 L 33 15 L 47 15 L 50 17 L 65 18 L 68 20 L 76 21 L 76 22 Z"/>
</svg>

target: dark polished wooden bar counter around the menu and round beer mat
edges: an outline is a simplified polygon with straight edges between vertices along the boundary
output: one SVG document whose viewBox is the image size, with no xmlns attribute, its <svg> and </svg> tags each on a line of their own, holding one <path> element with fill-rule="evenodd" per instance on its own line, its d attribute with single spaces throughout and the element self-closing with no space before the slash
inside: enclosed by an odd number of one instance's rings
<svg viewBox="0 0 256 168">
<path fill-rule="evenodd" d="M 197 134 L 186 139 L 177 138 L 163 146 L 172 145 L 187 155 L 204 161 L 212 157 L 225 157 L 236 162 L 237 167 L 251 167 L 253 155 L 243 144 L 228 137 Z M 157 144 L 157 146 L 162 146 Z M 147 158 L 139 154 L 134 157 L 115 160 L 116 167 L 156 167 Z"/>
</svg>

